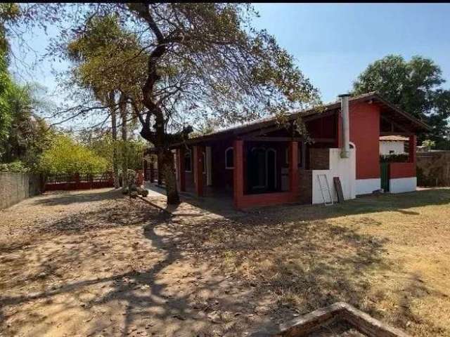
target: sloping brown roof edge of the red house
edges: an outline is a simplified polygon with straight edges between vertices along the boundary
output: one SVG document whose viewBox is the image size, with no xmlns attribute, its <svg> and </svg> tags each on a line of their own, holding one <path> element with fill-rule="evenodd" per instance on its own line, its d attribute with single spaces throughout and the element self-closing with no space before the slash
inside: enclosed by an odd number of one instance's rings
<svg viewBox="0 0 450 337">
<path fill-rule="evenodd" d="M 349 98 L 350 103 L 357 103 L 357 102 L 368 102 L 368 101 L 375 101 L 379 103 L 383 109 L 390 114 L 392 114 L 392 117 L 396 117 L 397 120 L 401 123 L 408 123 L 411 125 L 411 127 L 417 131 L 428 131 L 430 130 L 430 126 L 425 124 L 423 121 L 420 121 L 416 119 L 416 117 L 413 117 L 408 112 L 404 112 L 403 110 L 399 109 L 392 103 L 388 102 L 384 98 L 382 98 L 378 93 L 371 92 L 371 93 L 364 93 L 362 95 L 354 96 Z M 335 110 L 340 108 L 340 101 L 336 101 L 334 103 L 329 103 L 327 105 L 322 105 L 321 107 L 312 108 L 309 110 L 302 110 L 300 112 L 292 112 L 288 114 L 287 120 L 288 121 L 294 121 L 299 116 L 300 117 L 309 117 L 314 114 L 321 114 L 326 111 Z M 189 138 L 184 143 L 186 144 L 195 144 L 204 142 L 207 140 L 215 140 L 217 138 L 224 138 L 228 136 L 242 136 L 245 133 L 249 133 L 251 131 L 256 131 L 259 128 L 275 125 L 277 123 L 276 117 L 267 117 L 264 119 L 258 119 L 257 121 L 252 121 L 247 124 L 242 124 L 239 126 L 231 126 L 230 128 L 224 128 L 223 130 L 214 131 L 212 133 L 207 133 L 203 136 L 198 136 L 195 138 Z M 179 144 L 174 144 L 172 147 L 175 147 Z"/>
</svg>

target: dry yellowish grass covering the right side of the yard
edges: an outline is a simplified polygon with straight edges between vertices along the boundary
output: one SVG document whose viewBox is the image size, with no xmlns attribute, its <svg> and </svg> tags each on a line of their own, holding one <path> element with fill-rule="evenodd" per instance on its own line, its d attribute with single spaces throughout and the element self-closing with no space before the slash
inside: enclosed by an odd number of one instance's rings
<svg viewBox="0 0 450 337">
<path fill-rule="evenodd" d="M 275 321 L 343 300 L 413 336 L 450 336 L 449 189 L 191 225 Z"/>
</svg>

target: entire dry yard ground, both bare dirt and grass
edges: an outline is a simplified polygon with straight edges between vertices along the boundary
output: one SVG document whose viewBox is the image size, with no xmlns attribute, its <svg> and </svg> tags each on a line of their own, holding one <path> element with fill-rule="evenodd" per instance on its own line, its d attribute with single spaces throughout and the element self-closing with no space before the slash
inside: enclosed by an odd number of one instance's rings
<svg viewBox="0 0 450 337">
<path fill-rule="evenodd" d="M 250 336 L 338 300 L 450 336 L 449 189 L 215 206 L 90 190 L 1 211 L 0 336 Z"/>
</svg>

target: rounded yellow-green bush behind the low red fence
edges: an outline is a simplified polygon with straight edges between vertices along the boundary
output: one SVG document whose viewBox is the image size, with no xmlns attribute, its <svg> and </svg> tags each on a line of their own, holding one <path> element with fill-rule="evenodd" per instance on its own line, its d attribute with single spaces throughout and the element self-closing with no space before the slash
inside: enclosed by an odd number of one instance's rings
<svg viewBox="0 0 450 337">
<path fill-rule="evenodd" d="M 65 135 L 57 136 L 39 161 L 39 171 L 47 174 L 101 173 L 107 169 L 106 159 Z"/>
</svg>

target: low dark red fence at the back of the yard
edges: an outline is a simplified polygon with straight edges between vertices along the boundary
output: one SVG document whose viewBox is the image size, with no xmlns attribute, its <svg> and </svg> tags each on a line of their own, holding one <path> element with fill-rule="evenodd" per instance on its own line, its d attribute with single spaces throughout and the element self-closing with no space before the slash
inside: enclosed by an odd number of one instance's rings
<svg viewBox="0 0 450 337">
<path fill-rule="evenodd" d="M 55 174 L 46 177 L 45 191 L 90 190 L 91 188 L 114 187 L 112 172 L 96 174 Z"/>
</svg>

